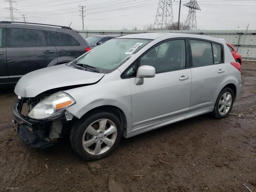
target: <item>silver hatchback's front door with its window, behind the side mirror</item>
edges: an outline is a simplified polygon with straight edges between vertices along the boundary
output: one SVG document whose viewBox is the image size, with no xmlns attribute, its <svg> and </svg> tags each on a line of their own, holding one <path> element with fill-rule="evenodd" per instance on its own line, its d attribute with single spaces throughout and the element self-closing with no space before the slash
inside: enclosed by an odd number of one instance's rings
<svg viewBox="0 0 256 192">
<path fill-rule="evenodd" d="M 142 85 L 130 78 L 133 128 L 186 114 L 189 111 L 191 72 L 185 39 L 161 42 L 138 59 L 138 66 L 156 69 Z M 132 70 L 128 69 L 128 72 Z"/>
</svg>

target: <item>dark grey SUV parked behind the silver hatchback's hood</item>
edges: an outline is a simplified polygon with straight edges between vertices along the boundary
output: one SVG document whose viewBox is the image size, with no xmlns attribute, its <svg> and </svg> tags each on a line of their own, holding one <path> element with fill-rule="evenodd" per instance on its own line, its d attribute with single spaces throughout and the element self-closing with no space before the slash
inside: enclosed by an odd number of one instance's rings
<svg viewBox="0 0 256 192">
<path fill-rule="evenodd" d="M 0 85 L 24 74 L 70 62 L 90 50 L 86 40 L 65 26 L 0 22 Z"/>
</svg>

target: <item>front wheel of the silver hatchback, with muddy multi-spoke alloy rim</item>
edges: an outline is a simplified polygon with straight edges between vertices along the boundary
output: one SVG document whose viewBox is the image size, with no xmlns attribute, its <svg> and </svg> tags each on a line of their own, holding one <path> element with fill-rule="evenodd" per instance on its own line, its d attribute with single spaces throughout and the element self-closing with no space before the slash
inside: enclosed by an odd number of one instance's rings
<svg viewBox="0 0 256 192">
<path fill-rule="evenodd" d="M 120 120 L 112 113 L 98 112 L 74 124 L 70 141 L 83 158 L 95 161 L 116 149 L 122 137 Z"/>
</svg>

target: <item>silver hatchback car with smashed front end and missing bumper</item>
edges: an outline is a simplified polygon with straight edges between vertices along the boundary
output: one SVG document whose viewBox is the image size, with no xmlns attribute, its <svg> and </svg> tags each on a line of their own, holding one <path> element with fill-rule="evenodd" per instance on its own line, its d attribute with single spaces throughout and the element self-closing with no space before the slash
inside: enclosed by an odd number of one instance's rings
<svg viewBox="0 0 256 192">
<path fill-rule="evenodd" d="M 120 36 L 70 63 L 24 75 L 15 87 L 12 112 L 30 147 L 44 148 L 70 135 L 78 155 L 98 160 L 122 136 L 209 112 L 226 117 L 240 94 L 240 71 L 222 39 Z"/>
</svg>

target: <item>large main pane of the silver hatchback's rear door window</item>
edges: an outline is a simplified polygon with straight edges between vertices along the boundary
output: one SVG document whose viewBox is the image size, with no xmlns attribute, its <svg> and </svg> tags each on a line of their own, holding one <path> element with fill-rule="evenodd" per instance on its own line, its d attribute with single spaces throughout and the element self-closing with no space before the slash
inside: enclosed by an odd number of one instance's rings
<svg viewBox="0 0 256 192">
<path fill-rule="evenodd" d="M 213 64 L 212 46 L 210 42 L 190 40 L 193 67 Z"/>
</svg>

